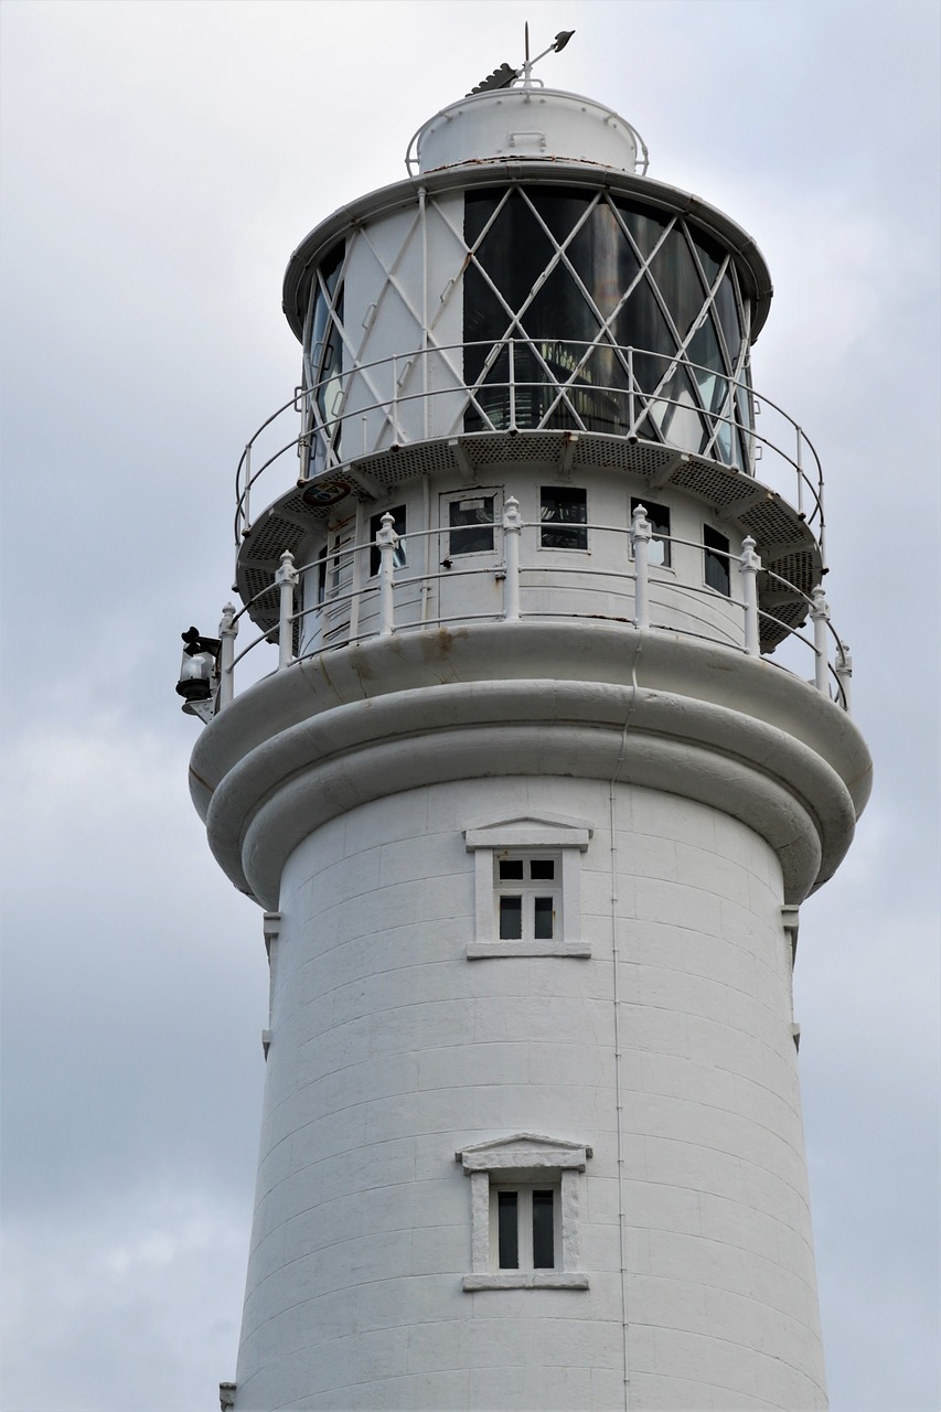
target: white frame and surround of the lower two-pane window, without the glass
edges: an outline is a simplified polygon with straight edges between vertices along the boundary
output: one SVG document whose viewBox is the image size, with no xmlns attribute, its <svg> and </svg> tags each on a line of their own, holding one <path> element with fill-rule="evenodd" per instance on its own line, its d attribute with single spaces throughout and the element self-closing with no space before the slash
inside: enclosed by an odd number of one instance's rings
<svg viewBox="0 0 941 1412">
<path fill-rule="evenodd" d="M 482 1289 L 588 1289 L 588 1275 L 579 1265 L 581 1173 L 592 1149 L 565 1138 L 547 1138 L 537 1132 L 514 1132 L 507 1138 L 478 1142 L 455 1152 L 465 1175 L 470 1178 L 470 1264 L 462 1286 L 473 1293 Z M 526 1268 L 526 1241 L 521 1241 L 520 1268 L 500 1269 L 497 1251 L 496 1204 L 500 1190 L 533 1192 L 552 1189 L 555 1238 L 552 1269 L 533 1269 L 531 1251 Z M 528 1207 L 531 1219 L 531 1206 Z M 527 1219 L 527 1203 L 517 1214 Z"/>
</svg>

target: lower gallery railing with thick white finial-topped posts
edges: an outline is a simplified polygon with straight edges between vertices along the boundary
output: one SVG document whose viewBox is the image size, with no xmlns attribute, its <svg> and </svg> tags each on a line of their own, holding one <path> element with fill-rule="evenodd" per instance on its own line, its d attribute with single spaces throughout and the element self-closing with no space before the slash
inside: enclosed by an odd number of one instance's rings
<svg viewBox="0 0 941 1412">
<path fill-rule="evenodd" d="M 495 534 L 495 554 L 493 556 L 487 556 L 490 562 L 486 565 L 468 565 L 459 569 L 448 568 L 444 569 L 444 572 L 435 572 L 428 563 L 425 563 L 425 566 L 418 572 L 410 572 L 406 565 L 400 565 L 398 568 L 396 566 L 396 551 L 400 544 L 400 537 L 396 534 L 393 515 L 387 513 L 381 518 L 381 525 L 374 539 L 367 539 L 363 544 L 348 545 L 343 549 L 338 549 L 336 554 L 331 554 L 333 572 L 336 572 L 342 563 L 352 562 L 357 555 L 377 554 L 379 572 L 366 586 L 357 586 L 342 593 L 329 593 L 322 602 L 308 607 L 298 606 L 298 585 L 301 583 L 302 575 L 319 572 L 324 566 L 324 561 L 318 559 L 298 566 L 294 563 L 292 555 L 285 551 L 281 555 L 280 566 L 268 586 L 263 587 L 251 600 L 249 600 L 249 603 L 244 604 L 240 611 L 236 613 L 232 604 L 227 604 L 223 610 L 223 618 L 219 628 L 220 648 L 218 662 L 219 689 L 216 695 L 216 710 L 225 709 L 235 696 L 236 665 L 261 642 L 277 644 L 277 671 L 284 671 L 297 661 L 318 657 L 324 651 L 346 647 L 352 642 L 360 642 L 367 638 L 389 638 L 393 634 L 406 634 L 427 628 L 448 627 L 455 623 L 470 624 L 475 621 L 495 620 L 517 623 L 521 620 L 544 621 L 547 618 L 558 621 L 576 617 L 596 620 L 602 616 L 595 611 L 578 613 L 574 609 L 561 609 L 558 607 L 558 603 L 551 609 L 545 606 L 545 569 L 535 569 L 535 566 L 524 565 L 520 561 L 520 541 L 523 531 L 540 531 L 544 530 L 545 525 L 541 521 L 523 521 L 519 501 L 513 496 L 507 496 L 504 501 L 502 522 L 496 522 L 490 528 Z M 677 535 L 665 535 L 658 530 L 654 530 L 654 525 L 647 518 L 643 505 L 636 507 L 632 522 L 627 528 L 613 525 L 578 525 L 578 528 L 592 531 L 598 530 L 625 537 L 630 544 L 629 568 L 552 569 L 554 587 L 558 587 L 567 580 L 578 582 L 582 579 L 585 580 L 586 589 L 596 593 L 599 580 L 615 583 L 633 611 L 629 617 L 625 614 L 615 617 L 613 621 L 620 621 L 643 631 L 664 631 L 671 635 L 687 635 L 699 640 L 708 638 L 711 641 L 723 642 L 746 657 L 762 655 L 762 624 L 773 624 L 776 635 L 780 637 L 783 634 L 795 644 L 804 644 L 808 648 L 812 659 L 812 683 L 817 689 L 845 710 L 851 709 L 852 659 L 846 644 L 839 638 L 832 627 L 829 607 L 822 589 L 815 587 L 811 594 L 805 594 L 787 579 L 763 569 L 762 561 L 754 552 L 754 541 L 750 537 L 743 541 L 742 552 L 739 555 L 730 552 L 726 554 L 712 548 L 708 551 L 714 558 L 728 563 L 728 594 L 719 593 L 705 585 L 699 586 L 690 582 L 671 580 L 668 590 L 674 604 L 673 609 L 668 609 L 664 616 L 670 617 L 670 613 L 673 613 L 674 621 L 656 623 L 651 620 L 651 614 L 658 606 L 663 610 L 663 602 L 657 597 L 657 594 L 663 592 L 664 582 L 658 576 L 651 578 L 650 573 L 651 542 L 664 546 L 670 545 L 671 548 L 691 548 L 699 554 L 705 552 L 705 546 L 699 542 L 682 539 Z M 454 531 L 441 528 L 420 534 L 410 534 L 408 544 L 420 544 L 422 539 L 432 539 L 437 535 L 446 535 L 451 532 Z M 499 545 L 496 538 L 497 534 L 502 537 L 502 559 L 495 563 L 493 561 L 497 555 Z M 625 555 L 625 559 L 627 559 L 627 555 Z M 783 618 L 776 617 L 773 613 L 763 610 L 759 606 L 759 573 L 766 575 L 774 585 L 780 585 L 793 602 L 803 600 L 805 609 L 804 616 L 811 621 L 810 635 L 791 627 Z M 442 611 L 439 597 L 437 610 L 431 611 L 435 585 L 445 580 L 452 582 L 455 578 L 461 576 L 470 580 L 486 579 L 493 582 L 496 579 L 502 583 L 497 606 L 486 609 L 478 607 L 478 610 L 475 610 L 470 597 L 468 596 L 462 600 L 459 611 L 445 613 Z M 527 582 L 533 576 L 535 576 L 538 582 Z M 407 590 L 413 592 L 410 593 Z M 708 600 L 712 607 L 718 607 L 723 613 L 729 613 L 729 610 L 732 610 L 728 626 L 723 627 L 721 623 L 714 621 L 708 633 L 694 631 L 690 627 L 680 626 L 678 618 L 682 614 L 677 614 L 675 602 L 684 596 L 691 600 Z M 235 641 L 239 633 L 240 620 L 249 616 L 251 607 L 260 604 L 261 600 L 268 602 L 271 616 L 274 602 L 277 602 L 278 621 L 276 626 L 259 633 L 240 652 L 236 654 Z M 356 611 L 353 611 L 353 609 L 356 609 Z M 346 610 L 350 610 L 348 620 L 343 617 Z M 408 616 L 410 611 L 411 616 Z M 339 630 L 333 628 L 329 634 L 321 634 L 319 637 L 315 633 L 308 631 L 312 620 L 318 616 L 321 623 L 325 616 L 329 616 L 333 623 L 339 620 Z M 343 626 L 343 623 L 346 626 Z M 301 650 L 297 655 L 294 652 L 295 640 L 301 644 Z"/>
</svg>

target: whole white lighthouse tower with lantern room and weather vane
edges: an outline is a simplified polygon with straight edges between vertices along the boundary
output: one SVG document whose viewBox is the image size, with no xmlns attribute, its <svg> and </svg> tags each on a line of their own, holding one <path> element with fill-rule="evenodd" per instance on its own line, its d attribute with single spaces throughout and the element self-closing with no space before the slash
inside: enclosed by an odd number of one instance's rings
<svg viewBox="0 0 941 1412">
<path fill-rule="evenodd" d="M 244 607 L 187 634 L 271 966 L 237 1412 L 827 1406 L 791 971 L 870 765 L 822 477 L 753 240 L 531 68 L 291 256 Z"/>
</svg>

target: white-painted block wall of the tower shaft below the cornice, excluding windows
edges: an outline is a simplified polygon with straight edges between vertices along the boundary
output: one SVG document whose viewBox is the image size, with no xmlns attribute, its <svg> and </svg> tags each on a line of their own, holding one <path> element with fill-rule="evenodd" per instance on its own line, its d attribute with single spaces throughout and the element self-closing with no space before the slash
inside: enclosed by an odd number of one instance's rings
<svg viewBox="0 0 941 1412">
<path fill-rule="evenodd" d="M 825 1406 L 780 866 L 706 805 L 613 808 L 612 839 L 600 781 L 439 784 L 294 850 L 239 1412 L 623 1408 L 625 1347 L 633 1409 Z M 526 812 L 593 829 L 588 960 L 466 959 L 463 829 Z M 462 1291 L 454 1154 L 517 1131 L 593 1149 L 588 1291 Z"/>
</svg>

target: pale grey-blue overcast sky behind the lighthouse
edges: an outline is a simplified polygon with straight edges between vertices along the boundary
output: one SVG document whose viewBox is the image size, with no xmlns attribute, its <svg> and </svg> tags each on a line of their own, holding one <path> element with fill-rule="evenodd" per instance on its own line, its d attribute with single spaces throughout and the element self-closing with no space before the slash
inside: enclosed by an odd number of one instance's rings
<svg viewBox="0 0 941 1412">
<path fill-rule="evenodd" d="M 189 803 L 178 634 L 216 627 L 236 460 L 300 377 L 291 250 L 526 18 L 771 268 L 754 380 L 824 460 L 876 761 L 797 964 L 831 1405 L 938 1408 L 938 16 L 3 0 L 6 1412 L 212 1412 L 235 1375 L 267 977 Z"/>
</svg>

